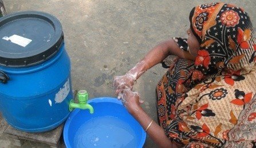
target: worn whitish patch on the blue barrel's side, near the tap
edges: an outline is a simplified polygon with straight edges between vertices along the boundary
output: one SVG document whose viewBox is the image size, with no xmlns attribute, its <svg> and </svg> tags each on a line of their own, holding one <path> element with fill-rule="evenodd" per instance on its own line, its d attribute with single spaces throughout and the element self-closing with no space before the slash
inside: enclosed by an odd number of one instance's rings
<svg viewBox="0 0 256 148">
<path fill-rule="evenodd" d="M 65 100 L 65 98 L 68 96 L 70 91 L 70 87 L 69 87 L 69 79 L 68 81 L 66 81 L 66 83 L 63 85 L 62 88 L 60 88 L 60 91 L 58 91 L 58 93 L 55 94 L 55 103 L 61 103 L 62 101 Z"/>
</svg>

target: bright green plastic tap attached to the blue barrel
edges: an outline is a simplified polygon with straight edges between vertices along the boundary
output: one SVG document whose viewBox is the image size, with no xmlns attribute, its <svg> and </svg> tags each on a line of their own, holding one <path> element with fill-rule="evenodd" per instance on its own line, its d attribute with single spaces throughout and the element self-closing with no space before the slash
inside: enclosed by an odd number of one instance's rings
<svg viewBox="0 0 256 148">
<path fill-rule="evenodd" d="M 87 103 L 88 100 L 88 93 L 84 90 L 78 91 L 77 93 L 77 98 L 78 98 L 78 104 L 74 103 L 74 100 L 70 100 L 69 102 L 69 111 L 72 112 L 74 108 L 79 108 L 79 109 L 89 109 L 90 113 L 94 113 L 94 109 L 92 105 Z"/>
</svg>

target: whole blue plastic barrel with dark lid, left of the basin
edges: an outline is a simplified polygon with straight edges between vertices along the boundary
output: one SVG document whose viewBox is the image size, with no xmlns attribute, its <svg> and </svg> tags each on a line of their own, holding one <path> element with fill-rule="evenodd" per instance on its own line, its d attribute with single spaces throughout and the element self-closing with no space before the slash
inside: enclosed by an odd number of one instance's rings
<svg viewBox="0 0 256 148">
<path fill-rule="evenodd" d="M 61 23 L 26 11 L 0 19 L 0 109 L 13 128 L 42 132 L 69 116 L 70 59 Z"/>
</svg>

